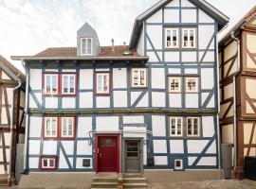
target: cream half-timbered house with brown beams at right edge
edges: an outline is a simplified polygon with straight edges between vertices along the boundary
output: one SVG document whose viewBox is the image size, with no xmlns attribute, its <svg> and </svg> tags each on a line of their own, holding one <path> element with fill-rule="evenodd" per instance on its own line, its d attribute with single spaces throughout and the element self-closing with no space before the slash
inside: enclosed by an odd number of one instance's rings
<svg viewBox="0 0 256 189">
<path fill-rule="evenodd" d="M 230 31 L 237 39 L 229 32 L 219 43 L 220 127 L 222 143 L 235 146 L 233 166 L 241 178 L 244 157 L 256 156 L 256 7 Z"/>
</svg>

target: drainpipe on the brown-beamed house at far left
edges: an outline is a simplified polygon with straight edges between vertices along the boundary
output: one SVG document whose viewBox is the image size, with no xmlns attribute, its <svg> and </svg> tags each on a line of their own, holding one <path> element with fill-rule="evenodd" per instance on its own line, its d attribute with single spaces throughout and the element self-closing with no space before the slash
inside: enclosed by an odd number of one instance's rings
<svg viewBox="0 0 256 189">
<path fill-rule="evenodd" d="M 13 138 L 13 115 L 14 115 L 14 112 L 13 112 L 14 103 L 13 102 L 14 102 L 14 92 L 17 89 L 19 89 L 22 85 L 22 81 L 19 77 L 17 79 L 17 82 L 18 82 L 18 85 L 14 89 L 12 89 L 13 99 L 11 101 L 11 106 L 10 106 L 11 116 L 10 116 L 10 127 L 9 127 L 10 137 L 9 137 L 9 177 L 8 177 L 8 185 L 11 184 L 11 181 L 12 181 L 11 176 L 13 176 L 13 174 L 14 174 L 11 170 L 11 166 L 12 166 L 12 145 L 13 145 L 13 143 L 12 143 L 12 138 Z"/>
</svg>

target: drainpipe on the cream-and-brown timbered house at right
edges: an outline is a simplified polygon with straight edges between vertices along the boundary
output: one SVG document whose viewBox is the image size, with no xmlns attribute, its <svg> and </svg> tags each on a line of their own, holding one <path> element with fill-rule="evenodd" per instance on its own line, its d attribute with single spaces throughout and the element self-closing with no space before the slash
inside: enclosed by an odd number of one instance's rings
<svg viewBox="0 0 256 189">
<path fill-rule="evenodd" d="M 240 71 L 240 40 L 234 36 L 234 31 L 230 33 L 231 38 L 237 43 L 237 64 L 236 64 L 236 72 L 233 76 L 233 136 L 234 136 L 234 154 L 233 154 L 233 161 L 234 167 L 237 166 L 237 124 L 236 124 L 236 76 L 239 74 Z"/>
</svg>

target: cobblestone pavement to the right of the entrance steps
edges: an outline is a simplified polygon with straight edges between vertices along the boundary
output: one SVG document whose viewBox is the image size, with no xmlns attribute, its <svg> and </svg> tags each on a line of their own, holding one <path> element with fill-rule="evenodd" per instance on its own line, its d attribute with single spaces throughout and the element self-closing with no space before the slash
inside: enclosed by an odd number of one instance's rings
<svg viewBox="0 0 256 189">
<path fill-rule="evenodd" d="M 256 189 L 252 180 L 184 181 L 170 184 L 150 184 L 149 189 Z"/>
</svg>

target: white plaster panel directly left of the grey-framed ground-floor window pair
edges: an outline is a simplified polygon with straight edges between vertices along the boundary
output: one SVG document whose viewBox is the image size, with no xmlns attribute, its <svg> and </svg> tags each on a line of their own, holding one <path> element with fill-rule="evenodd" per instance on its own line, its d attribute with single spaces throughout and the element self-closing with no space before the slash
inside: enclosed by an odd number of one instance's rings
<svg viewBox="0 0 256 189">
<path fill-rule="evenodd" d="M 152 115 L 153 136 L 166 136 L 166 120 L 163 115 Z"/>
</svg>

